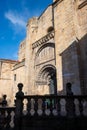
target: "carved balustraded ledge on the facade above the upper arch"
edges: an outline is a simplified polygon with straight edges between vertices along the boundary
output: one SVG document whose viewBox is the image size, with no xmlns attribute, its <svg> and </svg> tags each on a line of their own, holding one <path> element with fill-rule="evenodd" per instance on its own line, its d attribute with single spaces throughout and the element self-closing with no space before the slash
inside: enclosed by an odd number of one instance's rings
<svg viewBox="0 0 87 130">
<path fill-rule="evenodd" d="M 46 42 L 48 42 L 50 39 L 54 38 L 54 31 L 48 33 L 47 35 L 45 35 L 44 37 L 42 37 L 41 39 L 39 39 L 38 41 L 36 41 L 35 43 L 32 44 L 32 49 L 35 49 L 36 47 L 45 44 Z"/>
</svg>

